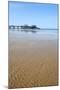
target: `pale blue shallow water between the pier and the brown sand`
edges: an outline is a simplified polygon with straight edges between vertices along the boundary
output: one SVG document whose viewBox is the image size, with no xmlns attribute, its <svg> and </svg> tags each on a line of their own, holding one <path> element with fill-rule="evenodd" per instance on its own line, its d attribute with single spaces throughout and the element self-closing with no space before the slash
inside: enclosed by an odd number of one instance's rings
<svg viewBox="0 0 60 90">
<path fill-rule="evenodd" d="M 27 32 L 21 30 L 9 30 L 9 36 L 15 39 L 32 39 L 32 40 L 53 40 L 58 38 L 58 30 L 35 30 L 35 32 Z"/>
</svg>

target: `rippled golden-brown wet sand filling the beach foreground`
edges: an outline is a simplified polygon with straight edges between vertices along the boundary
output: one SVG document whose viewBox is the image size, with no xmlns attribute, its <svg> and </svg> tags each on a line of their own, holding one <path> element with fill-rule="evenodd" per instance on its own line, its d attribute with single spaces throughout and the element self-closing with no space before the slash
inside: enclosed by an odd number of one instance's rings
<svg viewBox="0 0 60 90">
<path fill-rule="evenodd" d="M 9 88 L 58 84 L 56 40 L 9 40 Z"/>
</svg>

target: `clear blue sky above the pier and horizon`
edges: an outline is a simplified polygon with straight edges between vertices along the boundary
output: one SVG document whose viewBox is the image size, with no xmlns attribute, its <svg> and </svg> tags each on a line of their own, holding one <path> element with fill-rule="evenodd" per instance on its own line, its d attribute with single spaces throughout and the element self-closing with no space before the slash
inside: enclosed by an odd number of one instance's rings
<svg viewBox="0 0 60 90">
<path fill-rule="evenodd" d="M 9 1 L 9 25 L 57 28 L 58 5 Z"/>
</svg>

